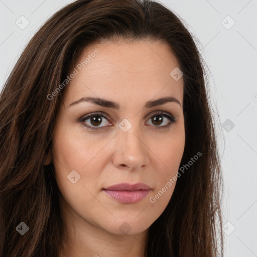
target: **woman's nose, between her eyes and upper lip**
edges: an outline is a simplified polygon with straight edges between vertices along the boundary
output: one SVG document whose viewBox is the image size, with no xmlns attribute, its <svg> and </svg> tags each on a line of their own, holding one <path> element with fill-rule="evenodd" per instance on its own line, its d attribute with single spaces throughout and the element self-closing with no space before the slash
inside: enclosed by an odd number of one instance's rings
<svg viewBox="0 0 257 257">
<path fill-rule="evenodd" d="M 136 171 L 149 165 L 149 152 L 146 137 L 132 126 L 127 132 L 120 130 L 115 137 L 113 165 L 119 169 Z"/>
</svg>

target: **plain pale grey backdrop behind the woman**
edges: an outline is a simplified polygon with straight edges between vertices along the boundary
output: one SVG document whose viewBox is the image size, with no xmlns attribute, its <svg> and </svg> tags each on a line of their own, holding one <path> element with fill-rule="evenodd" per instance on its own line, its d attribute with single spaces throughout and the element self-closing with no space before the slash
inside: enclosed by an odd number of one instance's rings
<svg viewBox="0 0 257 257">
<path fill-rule="evenodd" d="M 0 0 L 0 87 L 34 33 L 70 2 Z M 210 71 L 224 174 L 225 256 L 257 256 L 257 1 L 159 2 L 186 22 Z M 29 21 L 25 29 L 16 24 L 26 25 L 21 16 Z"/>
</svg>

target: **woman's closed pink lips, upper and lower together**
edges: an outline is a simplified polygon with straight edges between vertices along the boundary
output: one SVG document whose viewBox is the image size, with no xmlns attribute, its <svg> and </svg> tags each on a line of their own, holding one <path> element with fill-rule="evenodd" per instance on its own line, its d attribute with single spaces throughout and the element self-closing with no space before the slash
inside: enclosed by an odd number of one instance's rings
<svg viewBox="0 0 257 257">
<path fill-rule="evenodd" d="M 132 204 L 143 200 L 151 190 L 151 187 L 143 183 L 121 183 L 103 189 L 103 192 L 121 203 Z"/>
</svg>

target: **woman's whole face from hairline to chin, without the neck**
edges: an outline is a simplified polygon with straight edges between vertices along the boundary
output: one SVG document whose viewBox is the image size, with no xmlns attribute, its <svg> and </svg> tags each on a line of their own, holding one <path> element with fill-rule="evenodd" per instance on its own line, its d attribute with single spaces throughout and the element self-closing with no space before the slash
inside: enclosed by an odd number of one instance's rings
<svg viewBox="0 0 257 257">
<path fill-rule="evenodd" d="M 81 229 L 140 233 L 169 203 L 184 151 L 179 64 L 168 45 L 138 41 L 91 45 L 74 67 L 53 137 L 62 210 Z M 150 190 L 104 190 L 120 183 Z"/>
</svg>

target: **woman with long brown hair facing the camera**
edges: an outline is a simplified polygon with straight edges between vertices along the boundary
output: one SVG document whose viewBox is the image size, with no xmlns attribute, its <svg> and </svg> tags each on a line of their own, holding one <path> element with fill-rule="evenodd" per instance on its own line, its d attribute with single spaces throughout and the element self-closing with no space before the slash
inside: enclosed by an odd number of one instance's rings
<svg viewBox="0 0 257 257">
<path fill-rule="evenodd" d="M 223 256 L 204 67 L 166 7 L 64 7 L 0 107 L 1 256 Z"/>
</svg>

